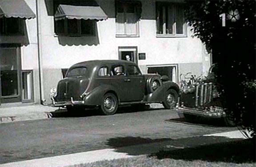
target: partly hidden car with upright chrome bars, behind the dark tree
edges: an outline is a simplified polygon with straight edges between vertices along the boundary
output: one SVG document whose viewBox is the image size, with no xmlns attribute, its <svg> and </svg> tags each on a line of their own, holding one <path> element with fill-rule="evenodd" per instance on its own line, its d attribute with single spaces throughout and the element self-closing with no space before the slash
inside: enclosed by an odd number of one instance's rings
<svg viewBox="0 0 256 167">
<path fill-rule="evenodd" d="M 175 110 L 180 117 L 188 121 L 196 118 L 220 118 L 227 126 L 235 126 L 232 112 L 224 109 L 224 100 L 221 99 L 219 84 L 216 82 L 215 71 L 217 65 L 213 64 L 205 78 L 195 78 L 188 82 L 181 80 L 180 96 Z"/>
</svg>

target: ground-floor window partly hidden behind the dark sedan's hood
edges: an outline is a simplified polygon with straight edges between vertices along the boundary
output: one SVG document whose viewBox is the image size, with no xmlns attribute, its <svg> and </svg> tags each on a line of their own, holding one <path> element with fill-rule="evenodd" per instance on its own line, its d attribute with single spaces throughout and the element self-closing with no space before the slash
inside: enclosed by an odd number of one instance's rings
<svg viewBox="0 0 256 167">
<path fill-rule="evenodd" d="M 170 81 L 177 83 L 177 68 L 177 65 L 148 66 L 148 74 L 166 75 Z"/>
</svg>

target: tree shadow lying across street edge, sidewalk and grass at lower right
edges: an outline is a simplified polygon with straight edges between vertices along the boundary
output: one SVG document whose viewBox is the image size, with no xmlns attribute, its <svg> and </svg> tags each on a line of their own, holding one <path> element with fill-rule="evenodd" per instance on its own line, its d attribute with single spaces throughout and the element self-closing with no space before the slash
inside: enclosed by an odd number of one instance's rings
<svg viewBox="0 0 256 167">
<path fill-rule="evenodd" d="M 255 162 L 255 142 L 223 136 L 197 136 L 183 139 L 116 137 L 106 143 L 116 152 L 149 155 L 158 159 Z"/>
</svg>

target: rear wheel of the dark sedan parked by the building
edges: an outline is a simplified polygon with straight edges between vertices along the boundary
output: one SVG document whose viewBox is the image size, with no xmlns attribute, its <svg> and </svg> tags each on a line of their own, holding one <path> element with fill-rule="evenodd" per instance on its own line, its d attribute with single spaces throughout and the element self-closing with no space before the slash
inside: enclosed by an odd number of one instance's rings
<svg viewBox="0 0 256 167">
<path fill-rule="evenodd" d="M 100 106 L 105 115 L 112 115 L 116 113 L 118 107 L 117 98 L 113 93 L 106 93 L 103 97 L 103 103 Z"/>
</svg>

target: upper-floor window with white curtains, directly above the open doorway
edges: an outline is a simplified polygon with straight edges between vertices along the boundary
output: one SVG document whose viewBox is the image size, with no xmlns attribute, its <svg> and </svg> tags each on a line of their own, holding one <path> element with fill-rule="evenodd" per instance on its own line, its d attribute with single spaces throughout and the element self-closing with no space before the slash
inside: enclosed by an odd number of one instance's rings
<svg viewBox="0 0 256 167">
<path fill-rule="evenodd" d="M 139 1 L 116 1 L 116 36 L 139 36 L 140 12 Z"/>
</svg>

